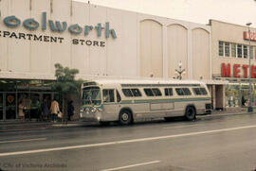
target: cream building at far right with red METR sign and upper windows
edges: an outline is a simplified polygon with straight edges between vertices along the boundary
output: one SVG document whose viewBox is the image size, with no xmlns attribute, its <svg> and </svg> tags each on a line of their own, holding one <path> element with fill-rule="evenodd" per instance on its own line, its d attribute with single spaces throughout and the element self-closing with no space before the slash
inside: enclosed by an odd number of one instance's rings
<svg viewBox="0 0 256 171">
<path fill-rule="evenodd" d="M 252 100 L 256 80 L 256 29 L 210 20 L 212 80 L 228 81 L 224 108 L 247 107 L 249 100 L 249 58 Z M 249 31 L 250 30 L 250 33 Z M 250 42 L 249 40 L 250 36 Z M 220 102 L 221 99 L 216 100 Z M 255 100 L 252 101 L 255 106 Z"/>
</svg>

